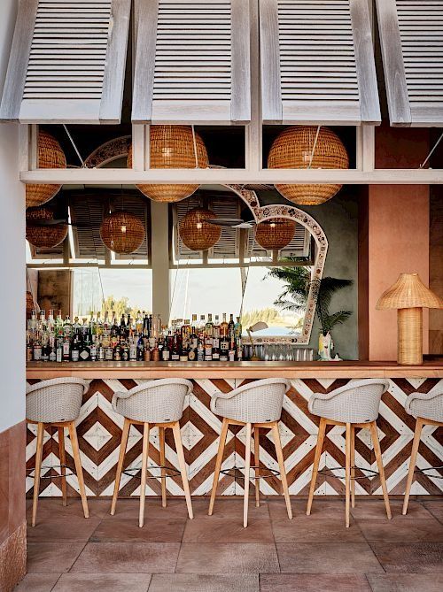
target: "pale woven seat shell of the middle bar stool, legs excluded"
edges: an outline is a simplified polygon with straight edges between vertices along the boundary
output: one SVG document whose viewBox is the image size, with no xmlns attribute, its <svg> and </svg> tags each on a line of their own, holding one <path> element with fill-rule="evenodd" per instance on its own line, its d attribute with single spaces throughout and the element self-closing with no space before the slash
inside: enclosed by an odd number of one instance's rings
<svg viewBox="0 0 443 592">
<path fill-rule="evenodd" d="M 254 381 L 229 393 L 216 393 L 211 410 L 222 418 L 245 423 L 270 423 L 282 415 L 284 393 L 291 387 L 283 378 Z"/>
</svg>

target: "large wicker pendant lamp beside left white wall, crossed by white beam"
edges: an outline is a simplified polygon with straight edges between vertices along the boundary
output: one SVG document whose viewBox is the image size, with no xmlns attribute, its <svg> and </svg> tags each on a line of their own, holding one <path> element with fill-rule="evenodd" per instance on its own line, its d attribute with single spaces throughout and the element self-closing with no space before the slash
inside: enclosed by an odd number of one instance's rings
<svg viewBox="0 0 443 592">
<path fill-rule="evenodd" d="M 66 168 L 66 157 L 57 140 L 47 132 L 38 134 L 38 168 Z M 28 184 L 27 208 L 46 204 L 55 196 L 61 185 Z"/>
</svg>

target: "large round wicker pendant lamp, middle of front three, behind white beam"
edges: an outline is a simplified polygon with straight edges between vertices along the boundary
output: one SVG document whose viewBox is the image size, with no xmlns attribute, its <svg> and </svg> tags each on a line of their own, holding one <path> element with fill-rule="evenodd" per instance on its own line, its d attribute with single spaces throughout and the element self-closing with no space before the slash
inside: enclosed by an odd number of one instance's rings
<svg viewBox="0 0 443 592">
<path fill-rule="evenodd" d="M 151 168 L 196 168 L 195 152 L 197 151 L 198 168 L 207 168 L 206 146 L 200 135 L 195 133 L 195 144 L 192 128 L 189 126 L 151 126 Z M 128 152 L 128 168 L 132 167 L 132 146 Z M 137 185 L 146 197 L 154 202 L 181 202 L 198 189 L 195 184 L 180 185 Z"/>
</svg>

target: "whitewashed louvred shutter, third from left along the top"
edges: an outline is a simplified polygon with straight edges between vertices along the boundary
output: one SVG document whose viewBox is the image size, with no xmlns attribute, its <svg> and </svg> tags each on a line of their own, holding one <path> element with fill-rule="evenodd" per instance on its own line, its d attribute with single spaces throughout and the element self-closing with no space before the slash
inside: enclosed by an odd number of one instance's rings
<svg viewBox="0 0 443 592">
<path fill-rule="evenodd" d="M 265 123 L 381 120 L 368 0 L 260 0 Z"/>
</svg>

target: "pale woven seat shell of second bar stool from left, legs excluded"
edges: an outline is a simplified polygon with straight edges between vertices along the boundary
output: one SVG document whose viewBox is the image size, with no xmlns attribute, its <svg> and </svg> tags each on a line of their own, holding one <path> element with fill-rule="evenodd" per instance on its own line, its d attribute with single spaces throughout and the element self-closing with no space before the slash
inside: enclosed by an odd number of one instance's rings
<svg viewBox="0 0 443 592">
<path fill-rule="evenodd" d="M 125 418 L 152 424 L 179 421 L 192 383 L 182 378 L 144 382 L 127 392 L 114 393 L 113 410 Z"/>
</svg>

